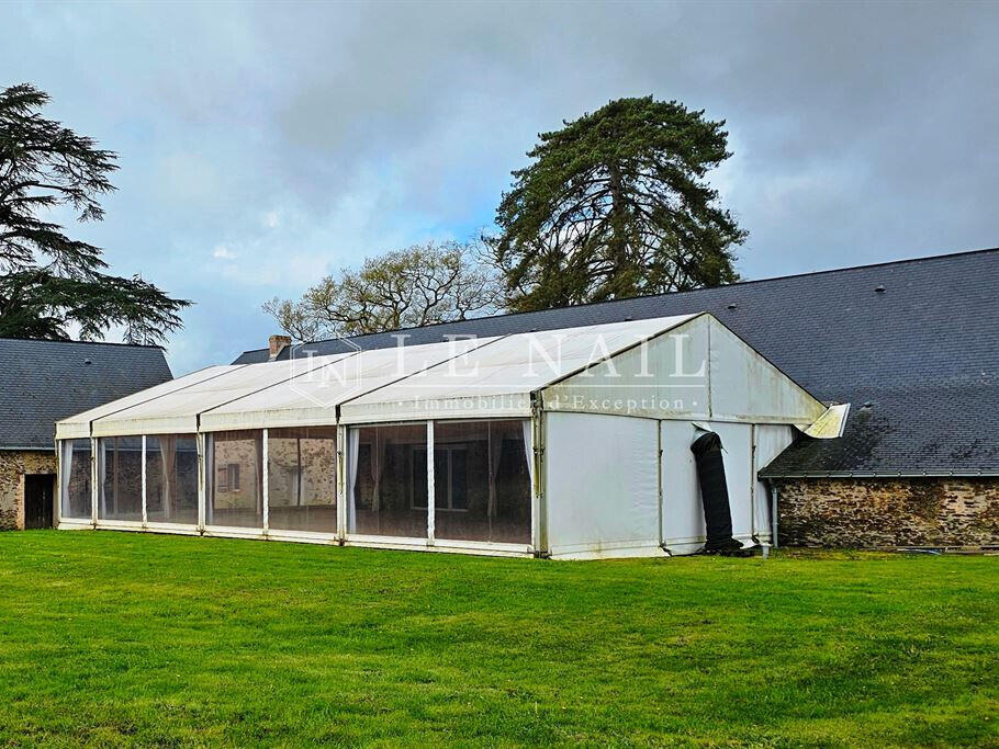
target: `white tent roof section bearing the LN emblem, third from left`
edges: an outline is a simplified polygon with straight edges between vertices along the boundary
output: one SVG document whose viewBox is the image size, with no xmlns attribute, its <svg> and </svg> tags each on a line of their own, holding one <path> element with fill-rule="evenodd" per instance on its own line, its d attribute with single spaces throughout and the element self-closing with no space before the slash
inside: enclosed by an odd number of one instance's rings
<svg viewBox="0 0 999 749">
<path fill-rule="evenodd" d="M 201 427 L 212 431 L 334 424 L 339 404 L 403 377 L 417 375 L 494 340 L 462 338 L 341 355 L 303 376 L 205 411 L 201 417 Z M 295 361 L 305 363 L 308 360 Z"/>
</svg>

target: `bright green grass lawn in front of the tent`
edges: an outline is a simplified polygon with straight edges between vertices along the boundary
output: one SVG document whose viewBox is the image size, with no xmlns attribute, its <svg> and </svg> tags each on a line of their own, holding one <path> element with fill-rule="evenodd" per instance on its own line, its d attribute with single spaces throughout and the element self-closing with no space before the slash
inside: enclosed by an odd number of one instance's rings
<svg viewBox="0 0 999 749">
<path fill-rule="evenodd" d="M 0 533 L 0 746 L 999 746 L 999 557 Z"/>
</svg>

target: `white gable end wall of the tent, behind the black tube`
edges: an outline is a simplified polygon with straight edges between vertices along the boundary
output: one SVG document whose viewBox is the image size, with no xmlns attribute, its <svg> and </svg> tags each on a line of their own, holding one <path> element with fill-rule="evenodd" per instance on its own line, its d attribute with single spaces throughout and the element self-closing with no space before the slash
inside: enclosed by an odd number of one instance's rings
<svg viewBox="0 0 999 749">
<path fill-rule="evenodd" d="M 805 427 L 826 410 L 710 315 L 682 321 L 646 343 L 545 388 L 541 400 L 549 430 L 545 454 L 549 551 L 552 556 L 574 557 L 638 554 L 642 548 L 648 554 L 659 554 L 659 540 L 627 542 L 621 537 L 606 543 L 610 541 L 608 532 L 620 535 L 615 523 L 621 522 L 621 518 L 614 513 L 624 508 L 607 501 L 606 497 L 613 493 L 594 491 L 586 496 L 584 489 L 609 481 L 621 486 L 620 498 L 640 497 L 629 485 L 635 476 L 621 469 L 626 461 L 616 452 L 617 445 L 604 444 L 602 435 L 586 431 L 604 430 L 611 434 L 616 433 L 614 428 L 597 427 L 590 421 L 592 427 L 579 427 L 576 433 L 564 428 L 570 421 L 557 417 L 586 412 L 617 415 L 618 419 L 628 421 L 637 415 L 662 419 L 651 421 L 654 436 L 636 447 L 642 455 L 659 450 L 660 444 L 662 449 L 661 461 L 655 453 L 639 469 L 661 472 L 662 520 L 660 525 L 656 515 L 650 527 L 661 527 L 662 543 L 670 553 L 689 554 L 705 542 L 700 488 L 691 452 L 698 433 L 694 422 L 717 432 L 721 439 L 734 537 L 744 545 L 754 543 L 754 537 L 768 544 L 768 502 L 756 480 L 756 472 L 790 444 L 794 435 L 790 424 Z M 627 442 L 622 435 L 617 436 Z M 560 444 L 563 441 L 570 445 L 569 453 L 554 463 L 552 456 L 566 450 L 565 444 Z M 605 454 L 613 455 L 615 463 L 604 463 Z M 565 467 L 566 461 L 582 463 L 583 455 L 594 463 Z M 568 501 L 572 492 L 575 503 Z M 598 512 L 588 507 L 592 501 L 604 501 L 599 510 L 610 517 L 600 519 L 599 523 L 590 522 L 592 514 Z M 635 501 L 639 507 L 628 511 L 641 514 L 644 500 Z M 569 517 L 562 518 L 561 513 Z M 602 524 L 606 527 L 600 527 Z M 565 527 L 572 532 L 566 533 Z"/>
</svg>

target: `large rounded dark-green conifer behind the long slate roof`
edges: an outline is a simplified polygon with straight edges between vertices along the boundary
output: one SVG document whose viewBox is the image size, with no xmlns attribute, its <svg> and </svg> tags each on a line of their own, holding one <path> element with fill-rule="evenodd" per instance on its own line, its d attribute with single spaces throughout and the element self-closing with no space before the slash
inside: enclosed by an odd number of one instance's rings
<svg viewBox="0 0 999 749">
<path fill-rule="evenodd" d="M 732 248 L 747 232 L 705 180 L 731 156 L 723 126 L 646 97 L 541 134 L 496 211 L 500 234 L 486 239 L 510 309 L 737 280 Z"/>
</svg>

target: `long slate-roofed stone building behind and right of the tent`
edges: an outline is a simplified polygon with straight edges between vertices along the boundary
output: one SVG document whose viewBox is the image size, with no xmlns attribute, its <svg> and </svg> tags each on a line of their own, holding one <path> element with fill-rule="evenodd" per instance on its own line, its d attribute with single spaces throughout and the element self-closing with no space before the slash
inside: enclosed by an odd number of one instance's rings
<svg viewBox="0 0 999 749">
<path fill-rule="evenodd" d="M 799 439 L 759 472 L 790 545 L 999 545 L 999 250 L 464 320 L 361 349 L 707 311 L 827 404 L 838 440 Z M 339 340 L 301 349 L 345 350 Z M 236 364 L 287 360 L 244 352 Z"/>
</svg>

